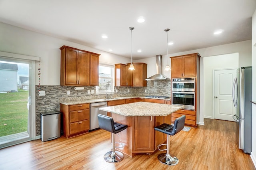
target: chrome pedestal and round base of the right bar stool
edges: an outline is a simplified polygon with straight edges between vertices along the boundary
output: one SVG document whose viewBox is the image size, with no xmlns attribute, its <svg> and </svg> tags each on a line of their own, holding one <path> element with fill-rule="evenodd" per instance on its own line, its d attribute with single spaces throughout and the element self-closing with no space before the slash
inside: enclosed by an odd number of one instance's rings
<svg viewBox="0 0 256 170">
<path fill-rule="evenodd" d="M 158 160 L 165 165 L 177 165 L 179 160 L 176 156 L 170 155 L 170 135 L 167 135 L 166 154 L 162 153 L 158 155 Z"/>
</svg>

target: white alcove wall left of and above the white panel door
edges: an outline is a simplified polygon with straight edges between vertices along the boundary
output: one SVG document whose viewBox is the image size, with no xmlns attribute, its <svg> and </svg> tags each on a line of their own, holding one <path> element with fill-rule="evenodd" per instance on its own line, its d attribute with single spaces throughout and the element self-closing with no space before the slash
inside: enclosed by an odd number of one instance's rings
<svg viewBox="0 0 256 170">
<path fill-rule="evenodd" d="M 204 64 L 204 90 L 201 90 L 201 92 L 204 95 L 204 106 L 207 106 L 202 111 L 204 118 L 213 118 L 213 70 L 238 68 L 238 53 L 203 57 L 201 59 Z"/>
</svg>

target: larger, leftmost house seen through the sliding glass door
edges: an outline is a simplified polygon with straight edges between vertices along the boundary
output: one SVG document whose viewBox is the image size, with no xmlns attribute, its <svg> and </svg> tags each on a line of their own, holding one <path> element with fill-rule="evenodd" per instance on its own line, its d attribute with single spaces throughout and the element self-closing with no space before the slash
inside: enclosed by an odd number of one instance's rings
<svg viewBox="0 0 256 170">
<path fill-rule="evenodd" d="M 0 93 L 18 92 L 18 64 L 0 63 Z"/>
</svg>

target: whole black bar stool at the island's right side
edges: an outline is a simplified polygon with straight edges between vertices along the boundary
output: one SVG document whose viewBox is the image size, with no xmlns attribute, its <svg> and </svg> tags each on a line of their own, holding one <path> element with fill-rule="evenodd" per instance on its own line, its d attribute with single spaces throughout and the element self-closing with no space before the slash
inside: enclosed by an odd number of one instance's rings
<svg viewBox="0 0 256 170">
<path fill-rule="evenodd" d="M 157 157 L 162 164 L 166 164 L 166 165 L 178 164 L 179 162 L 178 158 L 176 156 L 171 156 L 169 153 L 170 152 L 170 135 L 173 136 L 184 128 L 185 118 L 186 118 L 185 115 L 182 115 L 179 118 L 176 118 L 173 126 L 170 124 L 164 123 L 155 127 L 155 130 L 167 134 L 167 144 L 161 144 L 158 146 L 158 150 L 161 150 L 161 151 L 166 150 L 166 154 L 162 153 L 162 154 L 159 154 Z M 166 149 L 159 149 L 159 147 L 162 145 L 166 145 Z"/>
</svg>

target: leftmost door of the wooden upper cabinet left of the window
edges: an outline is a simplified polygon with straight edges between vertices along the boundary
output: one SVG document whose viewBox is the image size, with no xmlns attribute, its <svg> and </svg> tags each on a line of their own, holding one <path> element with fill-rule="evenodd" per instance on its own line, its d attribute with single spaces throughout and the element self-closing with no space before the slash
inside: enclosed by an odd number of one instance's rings
<svg viewBox="0 0 256 170">
<path fill-rule="evenodd" d="M 77 57 L 78 50 L 72 48 L 66 48 L 65 58 L 65 85 L 77 85 L 78 74 L 77 74 Z"/>
</svg>

